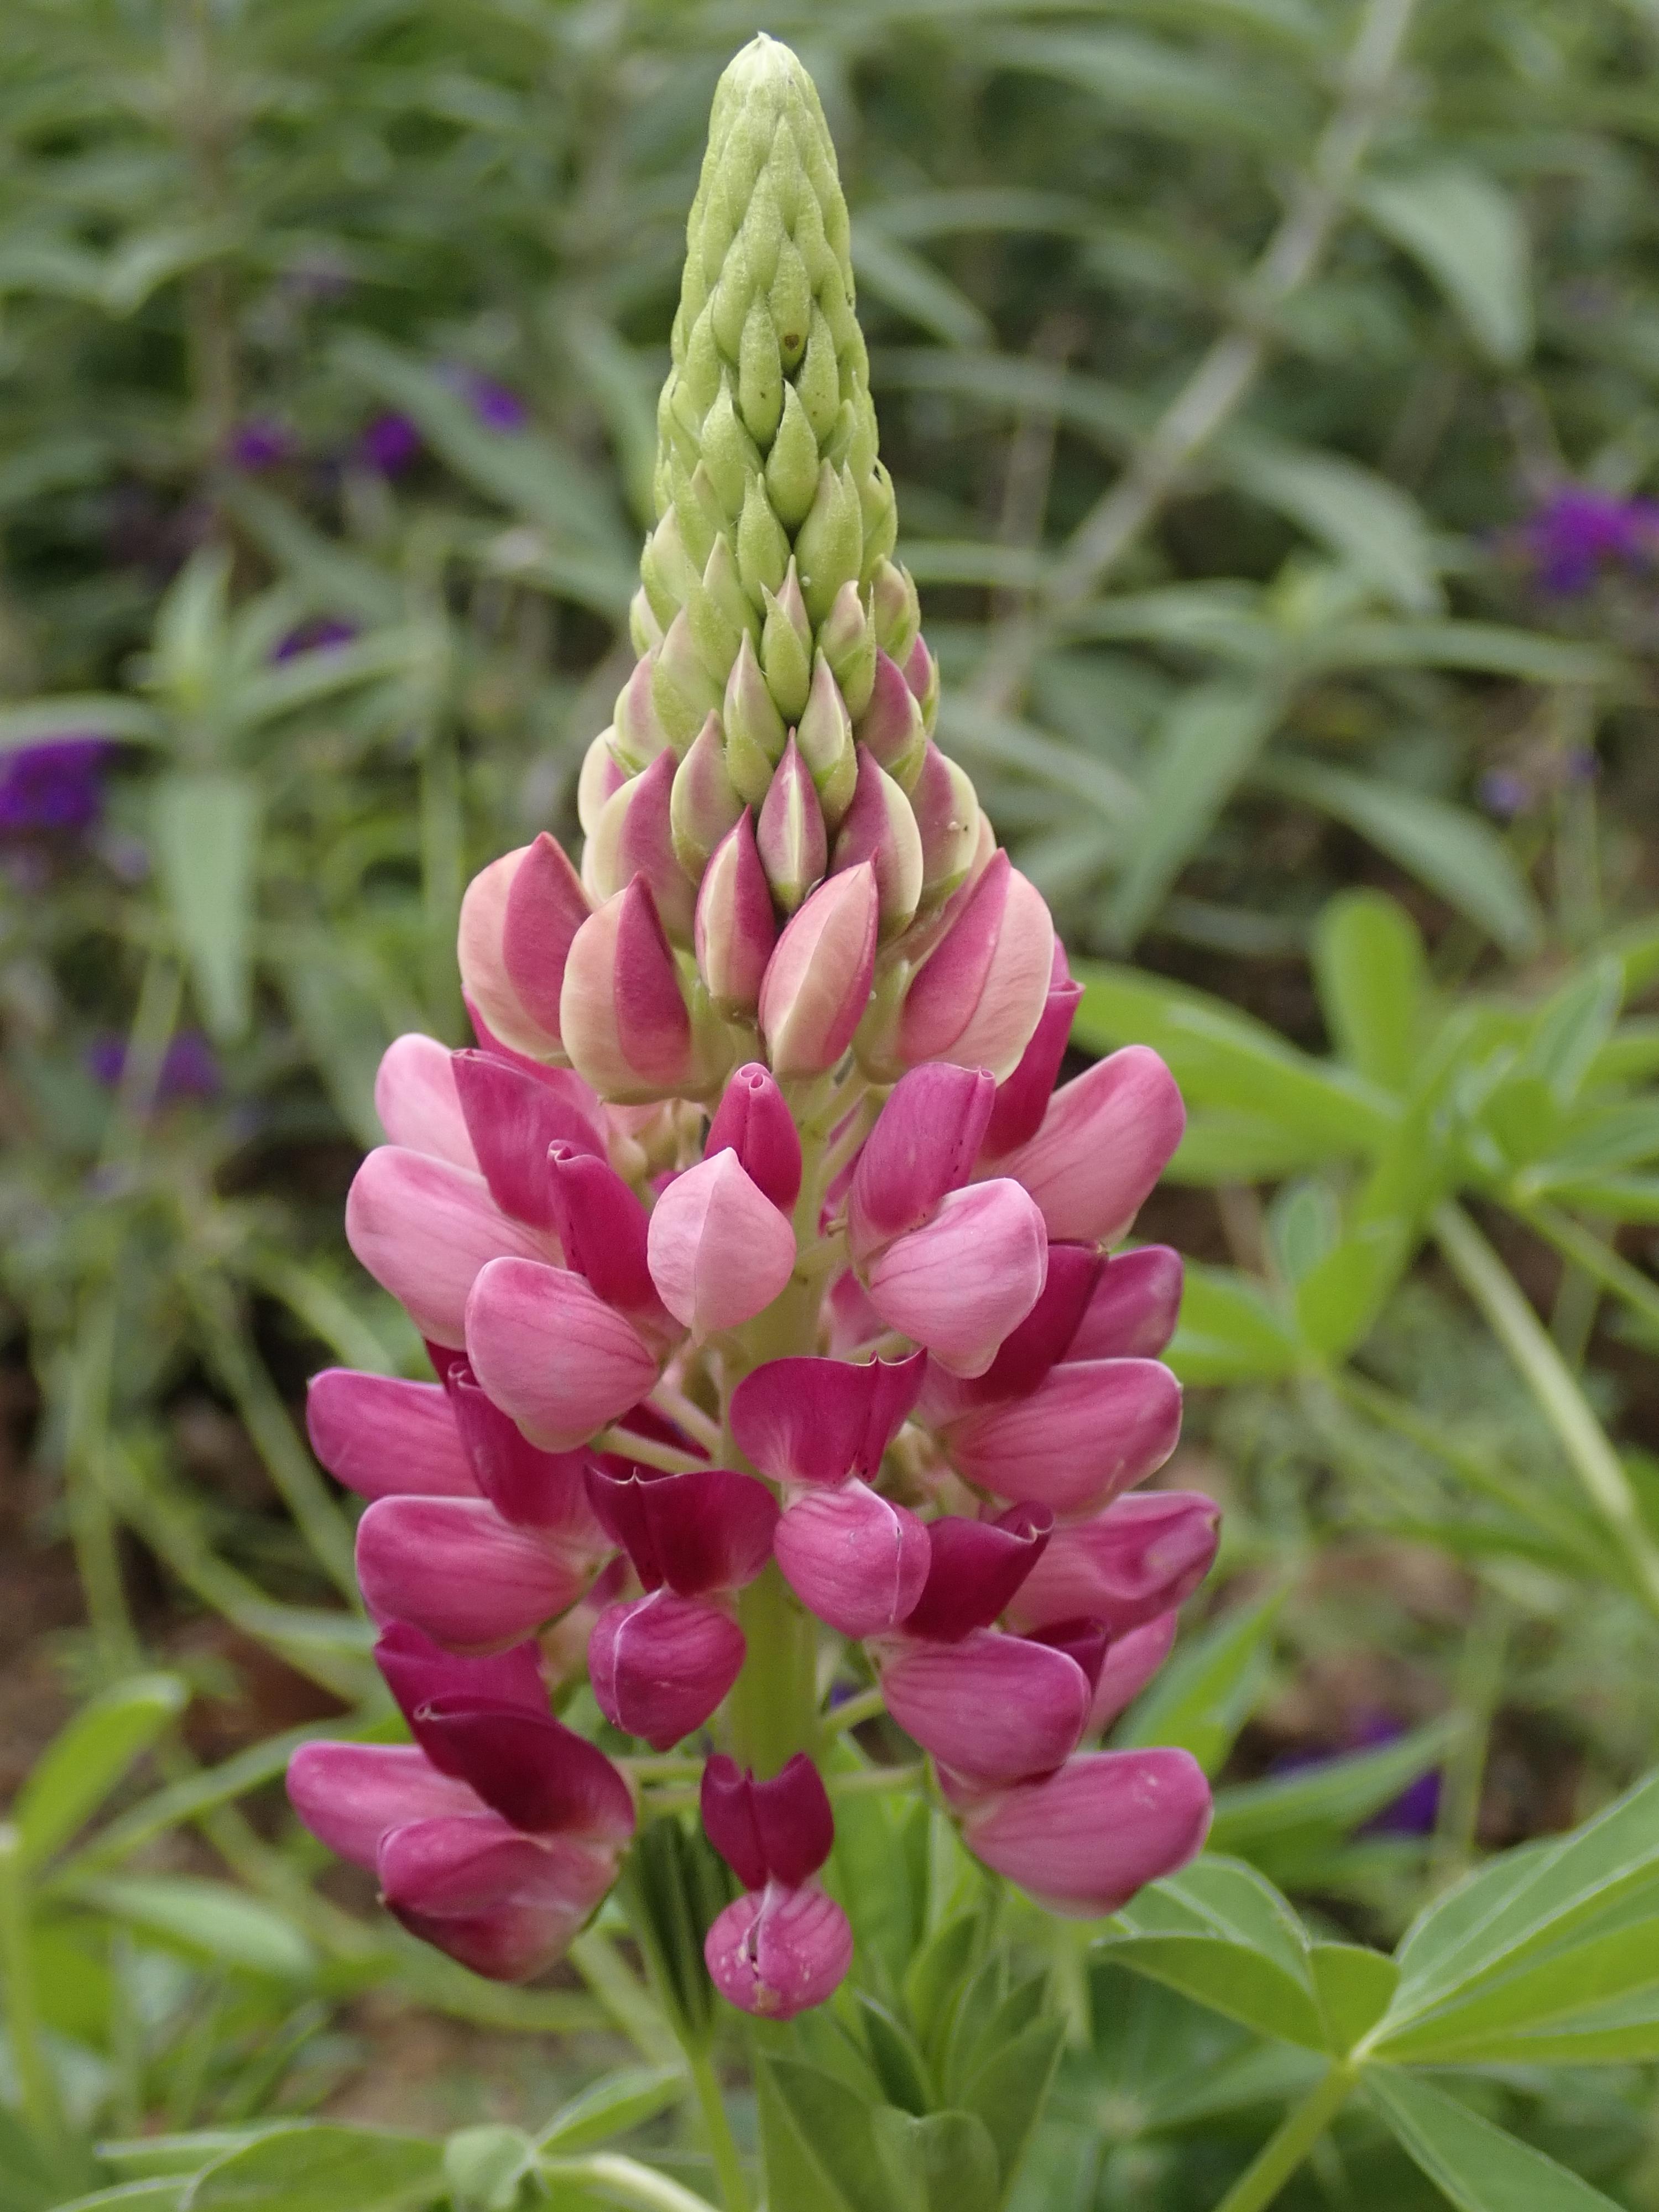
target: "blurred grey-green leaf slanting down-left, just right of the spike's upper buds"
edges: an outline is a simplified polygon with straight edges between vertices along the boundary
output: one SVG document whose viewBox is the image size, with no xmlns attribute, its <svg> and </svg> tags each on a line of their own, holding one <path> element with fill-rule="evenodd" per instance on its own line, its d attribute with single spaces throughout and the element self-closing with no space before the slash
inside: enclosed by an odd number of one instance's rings
<svg viewBox="0 0 1659 2212">
<path fill-rule="evenodd" d="M 1279 719 L 1279 692 L 1259 684 L 1197 684 L 1148 748 L 1146 807 L 1106 902 L 1106 927 L 1128 947 L 1214 827 Z"/>
</svg>

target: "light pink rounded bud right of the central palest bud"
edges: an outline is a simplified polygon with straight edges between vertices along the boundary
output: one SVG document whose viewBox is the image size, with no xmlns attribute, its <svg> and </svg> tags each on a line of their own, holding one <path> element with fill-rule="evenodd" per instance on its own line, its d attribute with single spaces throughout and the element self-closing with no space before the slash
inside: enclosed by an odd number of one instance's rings
<svg viewBox="0 0 1659 2212">
<path fill-rule="evenodd" d="M 1046 1267 L 1042 1214 L 1004 1179 L 949 1192 L 931 1221 L 876 1254 L 865 1290 L 940 1367 L 978 1376 L 1037 1303 Z"/>
</svg>

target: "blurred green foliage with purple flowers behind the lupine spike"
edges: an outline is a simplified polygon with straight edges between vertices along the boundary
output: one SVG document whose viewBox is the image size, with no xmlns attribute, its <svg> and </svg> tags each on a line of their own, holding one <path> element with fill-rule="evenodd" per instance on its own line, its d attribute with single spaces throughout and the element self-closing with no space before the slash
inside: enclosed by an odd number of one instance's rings
<svg viewBox="0 0 1659 2212">
<path fill-rule="evenodd" d="M 4 2212 L 142 2177 L 86 2148 L 142 2126 L 520 2119 L 630 2017 L 604 1933 L 498 1993 L 319 1889 L 272 1778 L 385 1725 L 299 1407 L 422 1369 L 341 1203 L 385 1042 L 460 1042 L 467 876 L 575 827 L 754 27 L 0 11 L 7 1787 L 102 1699 L 0 1869 L 53 2053 L 13 2048 Z M 1387 1944 L 1655 1754 L 1659 9 L 765 29 L 841 148 L 945 741 L 1082 960 L 1077 1048 L 1157 1044 L 1194 1108 L 1141 1234 L 1197 1261 L 1175 1480 L 1228 1548 L 1133 1728 Z M 1031 2201 L 1212 2205 L 1294 2066 L 1066 1971 Z M 1659 2205 L 1646 2064 L 1480 2097 Z M 1365 2130 L 1285 2203 L 1438 2201 Z"/>
</svg>

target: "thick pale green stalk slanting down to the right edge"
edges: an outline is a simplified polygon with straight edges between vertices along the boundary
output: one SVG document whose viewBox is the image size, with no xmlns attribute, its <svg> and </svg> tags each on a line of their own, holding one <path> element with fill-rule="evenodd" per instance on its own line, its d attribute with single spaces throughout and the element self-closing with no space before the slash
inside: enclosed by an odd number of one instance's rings
<svg viewBox="0 0 1659 2212">
<path fill-rule="evenodd" d="M 1590 1411 L 1584 1391 L 1562 1358 L 1555 1338 L 1522 1296 L 1469 1214 L 1447 1201 L 1433 1217 L 1433 1239 L 1493 1336 L 1520 1369 L 1540 1411 L 1566 1451 L 1590 1504 L 1626 1548 L 1644 1604 L 1659 1613 L 1659 1548 L 1641 1520 L 1637 1493 L 1608 1433 Z"/>
</svg>

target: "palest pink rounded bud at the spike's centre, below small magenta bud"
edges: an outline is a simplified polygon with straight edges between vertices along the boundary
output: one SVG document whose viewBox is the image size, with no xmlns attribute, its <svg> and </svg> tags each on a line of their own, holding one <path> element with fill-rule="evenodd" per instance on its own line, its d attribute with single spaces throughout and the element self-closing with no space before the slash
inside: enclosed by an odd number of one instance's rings
<svg viewBox="0 0 1659 2212">
<path fill-rule="evenodd" d="M 650 1274 L 675 1321 L 701 1343 L 768 1307 L 794 1272 L 787 1214 L 717 1152 L 677 1175 L 650 1214 Z"/>
</svg>

